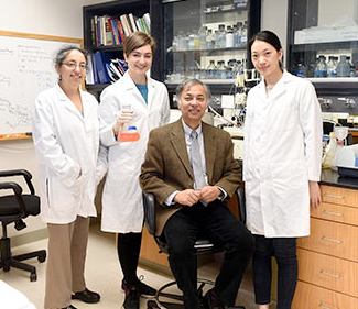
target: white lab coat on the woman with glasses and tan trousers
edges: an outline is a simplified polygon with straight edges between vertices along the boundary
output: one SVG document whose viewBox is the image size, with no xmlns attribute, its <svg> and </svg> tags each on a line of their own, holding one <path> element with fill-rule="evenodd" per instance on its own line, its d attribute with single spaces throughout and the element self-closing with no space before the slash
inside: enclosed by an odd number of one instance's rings
<svg viewBox="0 0 358 309">
<path fill-rule="evenodd" d="M 84 115 L 58 85 L 36 98 L 33 141 L 40 161 L 41 214 L 47 223 L 96 216 L 98 102 L 82 90 L 80 97 Z"/>
</svg>

